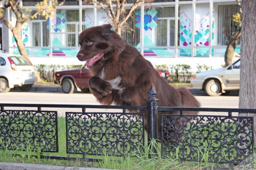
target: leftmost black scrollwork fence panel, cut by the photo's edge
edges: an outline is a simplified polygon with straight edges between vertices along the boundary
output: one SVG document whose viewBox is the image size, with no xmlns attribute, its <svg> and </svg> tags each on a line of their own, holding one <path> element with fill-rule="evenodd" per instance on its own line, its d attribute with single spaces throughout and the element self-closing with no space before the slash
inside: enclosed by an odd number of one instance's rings
<svg viewBox="0 0 256 170">
<path fill-rule="evenodd" d="M 0 149 L 58 152 L 56 111 L 0 111 Z"/>
</svg>

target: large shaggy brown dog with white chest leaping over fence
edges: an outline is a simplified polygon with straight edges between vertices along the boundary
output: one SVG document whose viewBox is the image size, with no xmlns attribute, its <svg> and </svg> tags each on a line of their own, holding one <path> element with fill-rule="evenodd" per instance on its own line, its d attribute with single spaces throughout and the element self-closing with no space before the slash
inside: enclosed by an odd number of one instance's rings
<svg viewBox="0 0 256 170">
<path fill-rule="evenodd" d="M 147 92 L 154 85 L 158 106 L 200 106 L 189 90 L 170 86 L 149 61 L 134 47 L 127 45 L 111 28 L 110 24 L 91 27 L 79 35 L 81 49 L 77 57 L 80 61 L 86 61 L 87 67 L 90 67 L 90 90 L 101 104 L 146 106 L 144 99 L 148 98 Z M 147 114 L 144 122 L 147 129 Z"/>
</svg>

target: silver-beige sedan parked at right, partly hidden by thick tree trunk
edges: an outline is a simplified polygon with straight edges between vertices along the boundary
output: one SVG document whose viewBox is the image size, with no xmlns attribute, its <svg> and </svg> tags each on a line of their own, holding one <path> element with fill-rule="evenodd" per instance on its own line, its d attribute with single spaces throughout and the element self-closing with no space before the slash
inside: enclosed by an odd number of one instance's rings
<svg viewBox="0 0 256 170">
<path fill-rule="evenodd" d="M 205 90 L 209 96 L 220 96 L 232 90 L 239 90 L 240 59 L 225 68 L 194 74 L 192 88 Z"/>
</svg>

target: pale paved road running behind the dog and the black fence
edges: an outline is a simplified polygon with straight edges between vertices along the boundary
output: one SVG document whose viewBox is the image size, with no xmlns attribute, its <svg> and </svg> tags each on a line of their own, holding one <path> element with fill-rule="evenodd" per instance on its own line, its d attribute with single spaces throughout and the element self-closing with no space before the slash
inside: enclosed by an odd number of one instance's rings
<svg viewBox="0 0 256 170">
<path fill-rule="evenodd" d="M 233 96 L 218 96 L 210 97 L 206 94 L 194 94 L 201 102 L 201 107 L 216 107 L 216 108 L 238 108 L 239 97 Z M 14 104 L 86 104 L 99 105 L 96 98 L 90 93 L 74 93 L 64 94 L 62 92 L 17 92 L 0 93 L 0 103 Z M 7 108 L 5 108 L 7 109 Z M 13 108 L 12 108 L 13 109 Z M 25 108 L 28 109 L 28 108 Z M 48 108 L 47 108 L 48 109 Z M 44 109 L 42 109 L 44 110 Z M 54 109 L 55 110 L 55 109 Z M 64 115 L 65 111 L 81 111 L 81 109 L 65 109 L 58 108 L 58 115 Z M 87 111 L 118 111 L 112 109 L 87 109 Z M 210 114 L 215 113 L 200 113 Z M 222 113 L 223 114 L 223 113 Z"/>
</svg>

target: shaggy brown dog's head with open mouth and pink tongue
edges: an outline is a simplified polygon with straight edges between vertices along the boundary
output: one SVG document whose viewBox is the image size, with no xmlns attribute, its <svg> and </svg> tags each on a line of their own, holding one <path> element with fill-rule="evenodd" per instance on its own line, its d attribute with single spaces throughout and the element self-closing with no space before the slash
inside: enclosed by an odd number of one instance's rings
<svg viewBox="0 0 256 170">
<path fill-rule="evenodd" d="M 125 43 L 122 38 L 111 28 L 110 24 L 90 27 L 79 35 L 81 49 L 77 58 L 86 61 L 87 67 L 101 61 L 109 52 L 121 53 L 124 49 Z"/>
</svg>

